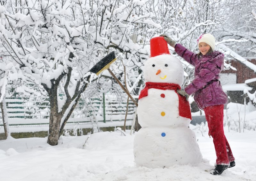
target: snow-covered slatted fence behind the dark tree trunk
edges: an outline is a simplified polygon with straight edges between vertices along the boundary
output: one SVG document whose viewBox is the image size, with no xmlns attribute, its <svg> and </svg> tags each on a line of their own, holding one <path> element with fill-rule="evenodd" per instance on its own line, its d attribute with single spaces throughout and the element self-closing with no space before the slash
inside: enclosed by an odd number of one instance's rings
<svg viewBox="0 0 256 181">
<path fill-rule="evenodd" d="M 47 97 L 6 98 L 9 125 L 49 124 L 50 102 Z M 124 120 L 127 96 L 113 94 L 99 95 L 92 98 L 81 98 L 68 123 L 91 121 Z M 135 105 L 130 100 L 127 119 L 132 119 Z M 3 125 L 0 110 L 0 126 Z"/>
</svg>

